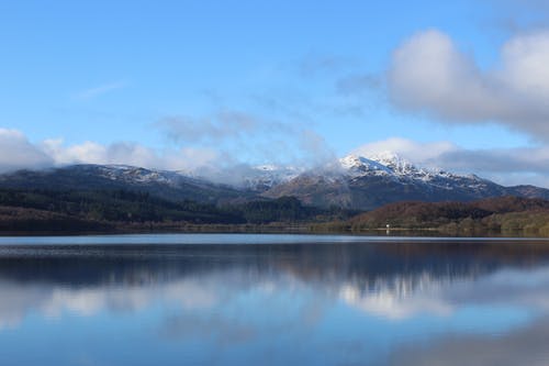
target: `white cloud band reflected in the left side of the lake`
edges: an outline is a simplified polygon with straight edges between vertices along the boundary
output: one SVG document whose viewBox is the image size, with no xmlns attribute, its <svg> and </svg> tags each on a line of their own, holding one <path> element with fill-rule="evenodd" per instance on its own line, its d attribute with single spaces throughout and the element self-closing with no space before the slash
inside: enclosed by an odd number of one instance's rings
<svg viewBox="0 0 549 366">
<path fill-rule="evenodd" d="M 47 317 L 59 317 L 64 311 L 91 317 L 101 311 L 134 312 L 163 299 L 180 309 L 214 307 L 221 291 L 212 281 L 178 279 L 166 284 L 132 286 L 88 286 L 70 288 L 55 284 L 15 284 L 0 280 L 0 289 L 7 295 L 0 303 L 0 330 L 16 328 L 34 311 Z M 9 295 L 9 296 L 8 296 Z"/>
</svg>

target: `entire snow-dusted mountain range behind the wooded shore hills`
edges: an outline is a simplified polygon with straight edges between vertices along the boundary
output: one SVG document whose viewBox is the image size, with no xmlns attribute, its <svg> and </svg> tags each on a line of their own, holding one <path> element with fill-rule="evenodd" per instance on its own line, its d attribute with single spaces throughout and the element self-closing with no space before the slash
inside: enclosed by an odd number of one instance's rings
<svg viewBox="0 0 549 366">
<path fill-rule="evenodd" d="M 549 189 L 505 187 L 475 175 L 417 167 L 391 153 L 349 155 L 314 169 L 257 166 L 233 174 L 220 170 L 209 177 L 124 165 L 71 165 L 5 173 L 0 175 L 0 188 L 128 189 L 167 200 L 215 204 L 293 196 L 307 206 L 357 210 L 399 201 L 472 201 L 503 196 L 549 199 Z"/>
</svg>

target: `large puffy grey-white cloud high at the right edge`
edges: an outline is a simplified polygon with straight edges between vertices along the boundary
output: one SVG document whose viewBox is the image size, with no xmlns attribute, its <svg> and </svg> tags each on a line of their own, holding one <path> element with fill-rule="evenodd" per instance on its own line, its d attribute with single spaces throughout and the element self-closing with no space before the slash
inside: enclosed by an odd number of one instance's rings
<svg viewBox="0 0 549 366">
<path fill-rule="evenodd" d="M 391 100 L 450 123 L 503 123 L 549 140 L 549 31 L 515 35 L 492 69 L 437 30 L 421 32 L 393 54 Z"/>
</svg>

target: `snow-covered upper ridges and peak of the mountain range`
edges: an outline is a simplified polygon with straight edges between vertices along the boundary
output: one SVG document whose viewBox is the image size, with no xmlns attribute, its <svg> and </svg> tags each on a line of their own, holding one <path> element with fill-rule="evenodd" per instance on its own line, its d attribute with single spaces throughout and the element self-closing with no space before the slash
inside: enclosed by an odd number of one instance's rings
<svg viewBox="0 0 549 366">
<path fill-rule="evenodd" d="M 457 186 L 482 186 L 484 184 L 477 176 L 460 176 L 440 169 L 417 167 L 393 152 L 371 154 L 367 157 L 352 154 L 316 168 L 276 164 L 242 165 L 232 168 L 210 168 L 193 171 L 165 171 L 126 165 L 108 165 L 98 168 L 102 170 L 103 176 L 112 180 L 178 185 L 182 179 L 193 179 L 255 191 L 269 190 L 301 175 L 317 176 L 334 181 L 339 181 L 341 178 L 376 177 L 377 179 L 389 179 L 406 185 L 419 184 L 444 189 L 453 189 Z"/>
</svg>

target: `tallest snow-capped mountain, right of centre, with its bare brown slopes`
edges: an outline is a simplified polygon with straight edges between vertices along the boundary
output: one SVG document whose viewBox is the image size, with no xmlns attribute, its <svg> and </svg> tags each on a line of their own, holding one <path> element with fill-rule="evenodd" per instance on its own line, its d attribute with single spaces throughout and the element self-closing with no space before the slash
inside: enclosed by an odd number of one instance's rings
<svg viewBox="0 0 549 366">
<path fill-rule="evenodd" d="M 489 197 L 549 198 L 533 186 L 504 187 L 474 175 L 417 168 L 394 154 L 347 156 L 338 169 L 309 171 L 272 187 L 265 197 L 294 196 L 307 204 L 371 210 L 399 201 L 472 201 Z"/>
</svg>

